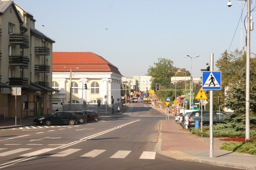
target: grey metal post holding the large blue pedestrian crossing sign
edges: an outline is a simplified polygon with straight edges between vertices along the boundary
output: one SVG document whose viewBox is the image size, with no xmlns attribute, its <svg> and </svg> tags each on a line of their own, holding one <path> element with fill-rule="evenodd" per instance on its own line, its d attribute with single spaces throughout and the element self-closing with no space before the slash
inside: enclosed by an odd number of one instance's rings
<svg viewBox="0 0 256 170">
<path fill-rule="evenodd" d="M 213 72 L 213 54 L 210 54 L 210 71 Z M 210 157 L 213 157 L 213 90 L 210 90 Z M 203 115 L 201 115 L 203 116 Z"/>
</svg>

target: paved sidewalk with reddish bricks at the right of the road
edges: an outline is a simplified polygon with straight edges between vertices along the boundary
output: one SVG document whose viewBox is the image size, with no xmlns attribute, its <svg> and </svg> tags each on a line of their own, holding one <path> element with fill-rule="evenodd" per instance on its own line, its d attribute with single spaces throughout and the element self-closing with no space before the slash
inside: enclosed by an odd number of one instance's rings
<svg viewBox="0 0 256 170">
<path fill-rule="evenodd" d="M 177 160 L 256 170 L 256 156 L 221 150 L 219 147 L 223 142 L 214 138 L 213 157 L 209 157 L 209 138 L 182 129 L 173 119 L 163 120 L 157 152 Z"/>
</svg>

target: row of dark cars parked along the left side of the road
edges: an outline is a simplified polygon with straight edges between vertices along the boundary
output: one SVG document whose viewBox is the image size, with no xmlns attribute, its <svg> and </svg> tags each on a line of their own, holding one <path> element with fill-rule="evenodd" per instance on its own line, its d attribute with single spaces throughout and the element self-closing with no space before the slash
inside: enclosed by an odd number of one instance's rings
<svg viewBox="0 0 256 170">
<path fill-rule="evenodd" d="M 33 119 L 35 125 L 75 125 L 77 123 L 86 123 L 94 120 L 97 122 L 99 116 L 92 111 L 69 111 L 52 112 L 44 116 Z"/>
</svg>

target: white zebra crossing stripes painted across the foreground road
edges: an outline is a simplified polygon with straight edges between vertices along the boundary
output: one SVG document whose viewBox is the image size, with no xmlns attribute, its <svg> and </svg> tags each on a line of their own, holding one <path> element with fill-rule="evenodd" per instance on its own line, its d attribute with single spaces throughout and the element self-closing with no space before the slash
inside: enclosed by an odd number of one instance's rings
<svg viewBox="0 0 256 170">
<path fill-rule="evenodd" d="M 44 154 L 46 152 L 51 152 L 50 154 L 48 154 L 50 157 L 66 157 L 68 155 L 74 154 L 79 151 L 79 153 L 81 153 L 81 155 L 78 157 L 94 158 L 94 157 L 99 156 L 103 152 L 107 151 L 107 150 L 100 150 L 100 149 L 94 149 L 92 151 L 88 151 L 88 150 L 85 151 L 83 149 L 69 148 L 69 149 L 62 150 L 59 152 L 59 149 L 44 148 L 41 150 L 29 152 L 29 153 L 24 153 L 24 154 L 22 153 L 22 152 L 26 152 L 30 149 L 33 150 L 33 148 L 19 148 L 19 149 L 14 149 L 14 150 L 10 150 L 10 151 L 5 151 L 5 150 L 8 150 L 8 148 L 0 148 L 0 151 L 2 151 L 0 153 L 0 157 L 5 157 L 5 156 L 11 155 L 11 154 L 16 154 L 19 157 L 32 157 L 32 156 L 40 156 L 40 154 Z M 53 153 L 53 152 L 55 152 L 55 153 Z M 116 151 L 116 152 L 109 151 L 108 157 L 124 159 L 132 152 L 139 152 L 139 151 L 122 151 L 122 150 Z M 140 155 L 140 157 L 139 157 L 139 155 Z M 143 151 L 142 153 L 140 152 L 138 154 L 137 159 L 155 159 L 155 155 L 156 155 L 155 151 Z"/>
</svg>

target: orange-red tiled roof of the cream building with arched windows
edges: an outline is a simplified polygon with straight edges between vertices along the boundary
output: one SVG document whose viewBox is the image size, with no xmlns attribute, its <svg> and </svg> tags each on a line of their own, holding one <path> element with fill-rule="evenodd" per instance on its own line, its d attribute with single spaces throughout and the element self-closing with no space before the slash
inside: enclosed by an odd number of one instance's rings
<svg viewBox="0 0 256 170">
<path fill-rule="evenodd" d="M 79 71 L 105 71 L 121 75 L 116 66 L 93 52 L 53 52 L 53 71 L 70 70 L 64 67 L 79 67 Z"/>
</svg>

